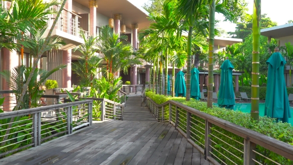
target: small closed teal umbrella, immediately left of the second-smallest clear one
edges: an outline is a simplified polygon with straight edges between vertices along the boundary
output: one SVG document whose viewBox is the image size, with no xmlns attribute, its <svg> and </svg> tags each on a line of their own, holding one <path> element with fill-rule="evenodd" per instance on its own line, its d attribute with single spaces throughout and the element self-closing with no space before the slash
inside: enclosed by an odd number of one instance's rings
<svg viewBox="0 0 293 165">
<path fill-rule="evenodd" d="M 186 95 L 186 87 L 185 87 L 185 81 L 184 81 L 184 73 L 182 71 L 179 71 L 176 75 L 176 81 L 175 81 L 175 96 L 182 96 L 185 97 Z"/>
</svg>

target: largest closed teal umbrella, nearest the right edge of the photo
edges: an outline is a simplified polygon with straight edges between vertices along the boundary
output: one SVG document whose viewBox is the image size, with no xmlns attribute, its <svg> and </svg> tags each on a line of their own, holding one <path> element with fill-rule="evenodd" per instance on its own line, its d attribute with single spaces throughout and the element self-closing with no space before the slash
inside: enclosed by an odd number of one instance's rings
<svg viewBox="0 0 293 165">
<path fill-rule="evenodd" d="M 286 61 L 281 53 L 275 52 L 267 61 L 269 67 L 267 79 L 267 93 L 265 115 L 277 118 L 278 121 L 289 123 L 290 105 L 284 79 Z"/>
</svg>

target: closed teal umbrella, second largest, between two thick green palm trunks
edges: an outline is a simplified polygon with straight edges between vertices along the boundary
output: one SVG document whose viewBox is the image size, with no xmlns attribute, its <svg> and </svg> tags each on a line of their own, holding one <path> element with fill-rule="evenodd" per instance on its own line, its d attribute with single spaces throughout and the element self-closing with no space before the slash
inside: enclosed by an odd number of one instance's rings
<svg viewBox="0 0 293 165">
<path fill-rule="evenodd" d="M 218 95 L 218 104 L 220 107 L 233 109 L 235 105 L 232 70 L 233 65 L 230 60 L 225 60 L 221 65 L 221 83 Z"/>
</svg>

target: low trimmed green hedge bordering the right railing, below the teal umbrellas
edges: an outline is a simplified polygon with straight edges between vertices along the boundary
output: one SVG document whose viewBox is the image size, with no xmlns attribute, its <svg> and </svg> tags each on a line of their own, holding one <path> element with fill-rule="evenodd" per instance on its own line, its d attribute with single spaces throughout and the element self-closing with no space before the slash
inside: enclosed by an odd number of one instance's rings
<svg viewBox="0 0 293 165">
<path fill-rule="evenodd" d="M 250 87 L 245 86 L 245 89 L 248 89 Z M 291 89 L 291 88 L 290 88 Z M 240 90 L 240 86 L 239 86 Z M 265 89 L 262 89 L 262 91 L 265 91 Z M 242 88 L 243 91 L 243 88 Z M 248 95 L 248 90 L 245 91 Z M 250 92 L 249 92 L 250 93 Z M 245 128 L 254 130 L 256 132 L 259 132 L 261 134 L 267 135 L 269 137 L 278 139 L 280 141 L 283 141 L 285 143 L 288 143 L 290 145 L 293 145 L 293 127 L 289 123 L 282 123 L 277 122 L 273 118 L 268 117 L 259 117 L 259 121 L 252 120 L 249 113 L 243 113 L 241 111 L 233 111 L 233 110 L 227 110 L 225 108 L 219 108 L 219 107 L 213 107 L 208 108 L 207 102 L 198 101 L 195 99 L 191 99 L 190 101 L 185 101 L 185 97 L 166 97 L 164 95 L 157 95 L 151 91 L 146 92 L 146 96 L 155 101 L 157 104 L 164 103 L 165 101 L 171 99 L 178 101 L 182 104 L 185 104 L 187 106 L 190 106 L 192 108 L 198 109 L 202 112 L 208 113 L 210 115 L 219 117 L 223 120 L 235 123 L 237 125 L 243 126 Z M 248 95 L 250 96 L 250 95 Z M 179 115 L 180 116 L 180 115 Z M 182 119 L 185 120 L 185 119 Z M 217 130 L 220 130 L 223 132 L 223 134 L 227 135 L 228 137 L 231 137 L 232 139 L 242 139 L 228 131 L 225 131 L 221 128 L 215 127 Z M 222 135 L 217 135 L 222 136 Z M 226 137 L 221 137 L 223 139 L 227 139 Z M 243 140 L 243 139 L 242 139 Z M 258 152 L 261 154 L 271 158 L 272 160 L 279 162 L 282 165 L 293 165 L 293 161 L 287 160 L 284 157 L 279 156 L 276 153 L 273 153 L 269 150 L 266 150 L 263 147 L 257 146 Z M 220 155 L 218 155 L 220 157 Z M 257 156 L 258 157 L 258 156 Z M 231 158 L 233 159 L 233 158 Z M 265 163 L 266 165 L 271 165 L 270 162 L 267 162 L 268 160 L 264 160 L 261 157 L 258 157 L 257 160 L 260 160 L 262 163 Z M 241 164 L 241 161 L 239 162 L 238 159 L 233 159 L 233 161 L 238 162 Z"/>
</svg>

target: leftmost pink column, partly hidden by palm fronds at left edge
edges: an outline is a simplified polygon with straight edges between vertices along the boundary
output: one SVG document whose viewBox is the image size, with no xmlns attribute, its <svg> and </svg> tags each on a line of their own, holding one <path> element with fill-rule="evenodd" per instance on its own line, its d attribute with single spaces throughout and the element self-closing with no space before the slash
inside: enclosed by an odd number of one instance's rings
<svg viewBox="0 0 293 165">
<path fill-rule="evenodd" d="M 18 66 L 18 56 L 17 52 L 15 50 L 12 50 L 11 52 L 3 48 L 3 70 L 9 70 L 12 71 L 14 67 Z M 11 88 L 8 86 L 6 81 L 3 79 L 3 90 L 11 90 Z M 5 97 L 5 100 L 3 102 L 3 111 L 11 111 L 13 107 L 16 105 L 15 96 L 13 94 L 3 94 Z M 11 97 L 13 98 L 11 100 Z"/>
</svg>

